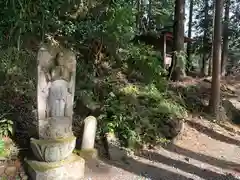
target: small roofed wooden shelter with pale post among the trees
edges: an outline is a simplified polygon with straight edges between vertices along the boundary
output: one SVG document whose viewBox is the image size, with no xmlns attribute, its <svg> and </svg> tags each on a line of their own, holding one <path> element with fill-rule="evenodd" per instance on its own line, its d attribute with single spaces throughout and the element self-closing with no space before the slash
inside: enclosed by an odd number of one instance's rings
<svg viewBox="0 0 240 180">
<path fill-rule="evenodd" d="M 173 33 L 170 31 L 161 31 L 158 33 L 145 33 L 135 36 L 134 42 L 140 41 L 154 46 L 163 56 L 163 66 L 168 68 L 172 63 Z M 184 37 L 184 42 L 192 42 L 192 39 Z"/>
</svg>

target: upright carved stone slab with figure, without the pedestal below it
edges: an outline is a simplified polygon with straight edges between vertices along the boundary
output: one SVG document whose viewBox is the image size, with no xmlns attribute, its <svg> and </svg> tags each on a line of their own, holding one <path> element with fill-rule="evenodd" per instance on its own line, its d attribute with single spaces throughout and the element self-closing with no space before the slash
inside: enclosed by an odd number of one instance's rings
<svg viewBox="0 0 240 180">
<path fill-rule="evenodd" d="M 41 52 L 42 51 L 42 52 Z M 42 49 L 39 53 L 44 52 Z M 42 55 L 44 56 L 44 55 Z M 45 55 L 47 56 L 47 55 Z M 39 98 L 45 97 L 44 109 L 39 109 L 40 119 L 71 117 L 75 88 L 75 59 L 70 52 L 57 53 L 47 62 L 39 62 Z M 47 106 L 48 105 L 48 106 Z"/>
</svg>

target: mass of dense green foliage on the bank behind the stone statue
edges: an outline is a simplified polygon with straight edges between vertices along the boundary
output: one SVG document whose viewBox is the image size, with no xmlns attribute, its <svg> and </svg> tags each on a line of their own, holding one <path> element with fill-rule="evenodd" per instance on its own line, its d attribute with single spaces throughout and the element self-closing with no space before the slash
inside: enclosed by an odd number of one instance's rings
<svg viewBox="0 0 240 180">
<path fill-rule="evenodd" d="M 137 31 L 136 7 L 126 0 L 88 2 L 0 2 L 0 14 L 5 17 L 0 22 L 0 77 L 2 92 L 6 92 L 0 94 L 4 102 L 1 114 L 36 105 L 36 52 L 29 50 L 35 47 L 26 45 L 30 35 L 37 40 L 64 38 L 79 55 L 75 100 L 80 99 L 92 111 L 101 107 L 100 133 L 114 132 L 129 147 L 165 143 L 173 136 L 171 122 L 186 111 L 171 92 L 166 92 L 161 57 L 152 47 L 130 43 Z M 161 26 L 172 24 L 172 0 L 154 1 L 152 11 Z M 97 65 L 96 54 L 91 51 L 93 39 L 104 47 Z M 102 68 L 103 64 L 107 68 Z M 78 108 L 82 107 L 75 110 Z M 11 121 L 2 120 L 0 125 L 4 135 L 11 132 Z"/>
</svg>

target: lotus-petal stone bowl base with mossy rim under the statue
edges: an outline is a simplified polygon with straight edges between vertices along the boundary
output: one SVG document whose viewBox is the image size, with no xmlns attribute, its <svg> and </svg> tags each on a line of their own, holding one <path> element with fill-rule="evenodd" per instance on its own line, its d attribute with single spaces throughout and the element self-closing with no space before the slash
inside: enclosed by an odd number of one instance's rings
<svg viewBox="0 0 240 180">
<path fill-rule="evenodd" d="M 40 161 L 55 162 L 67 158 L 74 150 L 76 137 L 64 139 L 30 139 L 32 151 Z"/>
</svg>

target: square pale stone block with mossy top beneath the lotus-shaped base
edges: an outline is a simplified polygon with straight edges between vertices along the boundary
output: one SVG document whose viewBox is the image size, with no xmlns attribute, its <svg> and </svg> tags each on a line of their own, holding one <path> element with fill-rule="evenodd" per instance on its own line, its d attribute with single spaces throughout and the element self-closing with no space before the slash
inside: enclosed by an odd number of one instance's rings
<svg viewBox="0 0 240 180">
<path fill-rule="evenodd" d="M 85 160 L 77 155 L 70 155 L 59 162 L 40 162 L 26 159 L 27 170 L 32 180 L 82 180 Z"/>
</svg>

